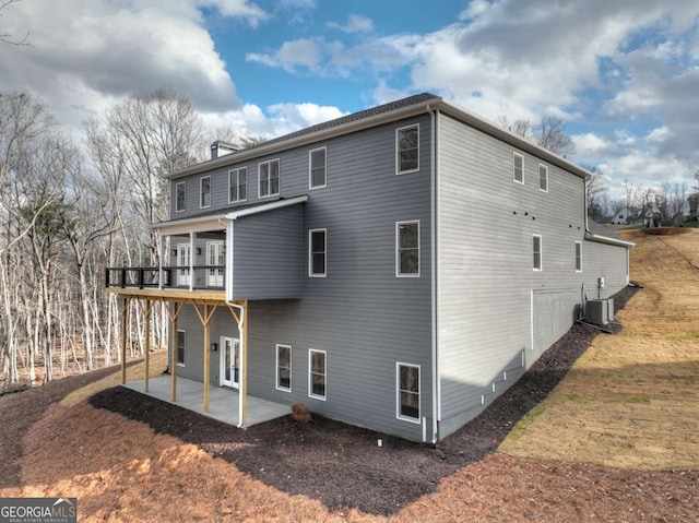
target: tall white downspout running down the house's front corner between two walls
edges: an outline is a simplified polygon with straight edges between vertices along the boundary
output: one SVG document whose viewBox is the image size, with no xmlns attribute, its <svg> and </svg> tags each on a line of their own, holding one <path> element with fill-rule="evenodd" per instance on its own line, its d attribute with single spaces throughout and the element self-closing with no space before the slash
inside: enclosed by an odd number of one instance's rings
<svg viewBox="0 0 699 523">
<path fill-rule="evenodd" d="M 439 440 L 439 419 L 440 419 L 440 402 L 439 402 L 439 371 L 437 347 L 439 343 L 438 335 L 438 304 L 439 304 L 439 276 L 437 273 L 437 112 L 428 105 L 427 111 L 431 117 L 430 144 L 431 154 L 429 161 L 429 236 L 430 236 L 430 278 L 431 278 L 431 367 L 433 367 L 433 436 L 431 444 L 436 444 Z M 423 432 L 424 433 L 424 432 Z M 425 437 L 423 436 L 425 440 Z"/>
</svg>

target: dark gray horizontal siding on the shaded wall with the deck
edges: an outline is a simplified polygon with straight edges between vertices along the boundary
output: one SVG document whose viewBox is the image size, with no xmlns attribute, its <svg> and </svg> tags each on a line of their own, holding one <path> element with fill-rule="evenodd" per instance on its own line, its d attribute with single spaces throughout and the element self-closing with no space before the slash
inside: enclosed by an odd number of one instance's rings
<svg viewBox="0 0 699 523">
<path fill-rule="evenodd" d="M 396 175 L 395 129 L 413 123 L 419 123 L 419 170 Z M 275 157 L 281 163 L 280 199 L 309 199 L 234 223 L 234 293 L 249 300 L 250 394 L 289 405 L 301 402 L 331 418 L 420 441 L 422 423 L 396 419 L 396 362 L 418 365 L 420 415 L 431 437 L 429 127 L 424 115 L 241 164 L 248 166 L 248 201 L 242 205 L 274 200 L 257 199 L 257 165 Z M 328 185 L 309 190 L 308 151 L 319 146 L 327 147 Z M 217 188 L 225 182 L 227 191 L 227 171 L 241 165 L 212 171 L 212 210 L 236 209 L 217 199 Z M 419 221 L 420 277 L 395 276 L 395 224 L 407 221 Z M 308 230 L 316 228 L 327 229 L 325 277 L 308 276 Z M 270 238 L 270 230 L 277 235 Z M 294 241 L 300 250 L 294 250 Z M 287 251 L 295 252 L 291 260 Z M 298 266 L 299 259 L 300 270 L 289 269 L 283 276 L 281 265 L 276 271 L 259 268 L 261 260 Z M 297 275 L 303 292 L 280 294 Z M 212 341 L 218 322 L 232 321 L 220 318 L 216 312 Z M 275 388 L 277 344 L 292 346 L 291 392 Z M 308 396 L 309 348 L 327 354 L 325 401 Z M 196 359 L 203 360 L 199 352 Z M 199 372 L 201 377 L 201 368 Z"/>
</svg>

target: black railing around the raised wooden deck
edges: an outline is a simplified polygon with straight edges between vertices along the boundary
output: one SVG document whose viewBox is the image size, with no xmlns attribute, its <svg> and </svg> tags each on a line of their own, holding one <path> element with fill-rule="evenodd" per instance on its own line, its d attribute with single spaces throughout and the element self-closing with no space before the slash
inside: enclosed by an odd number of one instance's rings
<svg viewBox="0 0 699 523">
<path fill-rule="evenodd" d="M 159 288 L 161 272 L 163 288 L 223 289 L 225 265 L 196 265 L 193 268 L 107 268 L 105 286 L 119 288 Z M 191 280 L 193 278 L 193 281 Z"/>
</svg>

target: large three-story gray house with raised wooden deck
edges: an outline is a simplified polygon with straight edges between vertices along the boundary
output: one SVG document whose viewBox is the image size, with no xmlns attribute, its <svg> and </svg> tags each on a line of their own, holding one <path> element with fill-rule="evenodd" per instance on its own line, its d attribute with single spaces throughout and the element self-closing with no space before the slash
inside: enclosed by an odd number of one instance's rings
<svg viewBox="0 0 699 523">
<path fill-rule="evenodd" d="M 226 153 L 167 177 L 169 266 L 108 270 L 205 391 L 436 442 L 628 284 L 587 170 L 431 94 Z"/>
</svg>

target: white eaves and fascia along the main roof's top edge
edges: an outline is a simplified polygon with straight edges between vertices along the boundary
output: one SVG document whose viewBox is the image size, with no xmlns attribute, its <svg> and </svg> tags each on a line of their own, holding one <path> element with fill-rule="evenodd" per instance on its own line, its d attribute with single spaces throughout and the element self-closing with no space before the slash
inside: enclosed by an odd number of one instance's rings
<svg viewBox="0 0 699 523">
<path fill-rule="evenodd" d="M 410 103 L 411 98 L 415 98 L 415 102 Z M 424 93 L 411 98 L 405 98 L 404 100 L 398 100 L 393 104 L 386 104 L 384 106 L 347 115 L 318 126 L 311 126 L 285 136 L 272 139 L 269 142 L 262 142 L 259 145 L 227 154 L 220 158 L 202 162 L 169 175 L 163 175 L 163 178 L 177 179 L 185 176 L 205 173 L 212 169 L 225 168 L 227 166 L 233 167 L 235 164 L 240 162 L 246 162 L 260 156 L 268 156 L 292 147 L 330 140 L 335 136 L 410 118 L 412 116 L 427 114 L 430 110 L 442 111 L 443 114 L 461 120 L 479 131 L 502 140 L 521 151 L 526 151 L 528 153 L 541 157 L 542 159 L 564 168 L 581 178 L 588 178 L 591 176 L 591 173 L 587 169 L 572 164 L 568 159 L 558 156 L 557 154 L 554 154 L 529 140 L 525 140 L 522 136 L 514 134 L 513 132 L 508 131 L 507 129 L 503 129 L 467 109 L 464 109 L 453 102 L 445 99 L 441 96 Z M 405 103 L 406 105 L 401 105 L 401 103 Z M 391 108 L 392 106 L 394 106 L 394 108 Z M 386 109 L 382 109 L 384 107 Z M 365 112 L 366 116 L 362 116 Z"/>
</svg>

